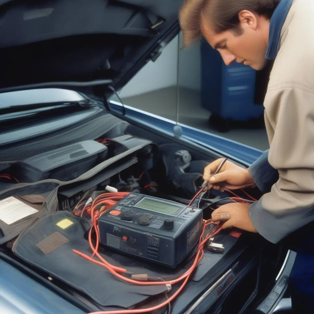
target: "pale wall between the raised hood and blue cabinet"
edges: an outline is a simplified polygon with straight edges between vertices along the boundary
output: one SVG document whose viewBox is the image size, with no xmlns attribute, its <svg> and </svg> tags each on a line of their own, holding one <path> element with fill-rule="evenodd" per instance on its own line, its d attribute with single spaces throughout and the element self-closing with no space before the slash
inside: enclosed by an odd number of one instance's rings
<svg viewBox="0 0 314 314">
<path fill-rule="evenodd" d="M 182 46 L 180 34 L 180 47 Z M 149 61 L 120 91 L 120 97 L 132 97 L 156 89 L 176 86 L 177 82 L 176 36 L 155 61 Z M 200 90 L 200 46 L 199 43 L 180 51 L 179 85 Z"/>
</svg>

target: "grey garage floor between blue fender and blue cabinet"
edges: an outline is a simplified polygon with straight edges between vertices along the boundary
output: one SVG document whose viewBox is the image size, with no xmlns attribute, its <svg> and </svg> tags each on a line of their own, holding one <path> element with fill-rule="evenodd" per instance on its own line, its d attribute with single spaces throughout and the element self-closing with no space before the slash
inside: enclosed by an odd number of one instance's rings
<svg viewBox="0 0 314 314">
<path fill-rule="evenodd" d="M 176 87 L 169 87 L 122 100 L 128 106 L 176 120 L 176 90 Z M 211 129 L 208 124 L 210 112 L 201 107 L 198 91 L 180 88 L 179 104 L 180 123 L 230 138 L 257 149 L 265 150 L 269 148 L 265 129 L 233 129 L 226 133 Z"/>
</svg>

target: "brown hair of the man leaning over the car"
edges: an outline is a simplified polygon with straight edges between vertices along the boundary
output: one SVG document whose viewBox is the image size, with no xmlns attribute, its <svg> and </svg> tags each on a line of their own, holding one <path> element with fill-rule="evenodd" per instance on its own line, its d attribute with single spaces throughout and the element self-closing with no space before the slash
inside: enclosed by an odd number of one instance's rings
<svg viewBox="0 0 314 314">
<path fill-rule="evenodd" d="M 241 35 L 238 14 L 249 10 L 270 19 L 280 0 L 185 0 L 179 13 L 183 45 L 188 46 L 201 35 L 202 16 L 218 34 L 233 29 Z"/>
</svg>

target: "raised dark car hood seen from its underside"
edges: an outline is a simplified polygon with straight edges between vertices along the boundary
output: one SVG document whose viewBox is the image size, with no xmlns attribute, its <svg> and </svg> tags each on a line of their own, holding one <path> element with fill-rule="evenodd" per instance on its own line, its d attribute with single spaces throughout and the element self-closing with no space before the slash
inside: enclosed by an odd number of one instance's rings
<svg viewBox="0 0 314 314">
<path fill-rule="evenodd" d="M 182 0 L 0 0 L 0 93 L 122 88 L 178 33 Z"/>
</svg>

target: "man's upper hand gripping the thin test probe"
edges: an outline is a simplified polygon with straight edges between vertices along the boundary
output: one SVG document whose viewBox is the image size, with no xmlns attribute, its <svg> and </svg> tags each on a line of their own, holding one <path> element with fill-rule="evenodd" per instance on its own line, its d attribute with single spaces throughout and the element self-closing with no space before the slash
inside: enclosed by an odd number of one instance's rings
<svg viewBox="0 0 314 314">
<path fill-rule="evenodd" d="M 229 160 L 221 167 L 219 173 L 213 176 L 212 174 L 217 170 L 222 160 L 223 158 L 217 159 L 204 169 L 203 179 L 208 182 L 209 187 L 213 185 L 212 188 L 215 190 L 235 190 L 256 186 L 248 169 L 241 168 Z"/>
</svg>

